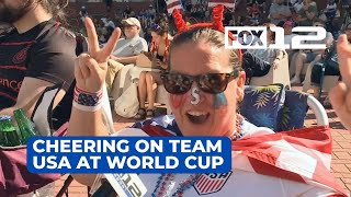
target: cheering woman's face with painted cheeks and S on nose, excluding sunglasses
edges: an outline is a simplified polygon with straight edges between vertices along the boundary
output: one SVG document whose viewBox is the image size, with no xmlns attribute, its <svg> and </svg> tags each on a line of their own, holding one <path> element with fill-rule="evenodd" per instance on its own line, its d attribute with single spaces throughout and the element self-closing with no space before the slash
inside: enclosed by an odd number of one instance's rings
<svg viewBox="0 0 351 197">
<path fill-rule="evenodd" d="M 171 51 L 170 72 L 189 76 L 230 73 L 229 53 L 208 43 L 185 43 Z M 197 83 L 184 94 L 170 94 L 170 105 L 184 136 L 231 136 L 237 102 L 244 97 L 245 72 L 231 79 L 219 94 L 201 91 Z M 195 102 L 192 104 L 192 102 Z"/>
</svg>

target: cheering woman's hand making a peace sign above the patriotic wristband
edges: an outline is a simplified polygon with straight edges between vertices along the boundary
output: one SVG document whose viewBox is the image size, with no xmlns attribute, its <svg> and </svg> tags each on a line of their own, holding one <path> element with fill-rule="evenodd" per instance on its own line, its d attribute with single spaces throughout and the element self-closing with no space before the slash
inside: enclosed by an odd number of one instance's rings
<svg viewBox="0 0 351 197">
<path fill-rule="evenodd" d="M 105 81 L 107 60 L 121 36 L 121 30 L 115 28 L 107 44 L 100 48 L 95 26 L 90 18 L 86 18 L 89 54 L 81 54 L 76 59 L 75 77 L 77 88 L 87 92 L 99 92 Z"/>
</svg>

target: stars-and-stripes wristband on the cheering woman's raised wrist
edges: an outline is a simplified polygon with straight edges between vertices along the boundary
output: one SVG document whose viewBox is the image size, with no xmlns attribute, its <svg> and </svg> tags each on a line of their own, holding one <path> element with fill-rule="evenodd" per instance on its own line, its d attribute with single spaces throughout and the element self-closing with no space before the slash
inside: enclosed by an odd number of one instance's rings
<svg viewBox="0 0 351 197">
<path fill-rule="evenodd" d="M 84 112 L 95 112 L 102 106 L 103 91 L 91 93 L 75 88 L 73 107 Z"/>
</svg>

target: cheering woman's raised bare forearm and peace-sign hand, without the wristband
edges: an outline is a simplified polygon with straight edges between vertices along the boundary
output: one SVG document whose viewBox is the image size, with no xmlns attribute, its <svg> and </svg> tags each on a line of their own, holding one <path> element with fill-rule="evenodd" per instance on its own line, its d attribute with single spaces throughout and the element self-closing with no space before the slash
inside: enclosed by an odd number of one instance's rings
<svg viewBox="0 0 351 197">
<path fill-rule="evenodd" d="M 107 71 L 107 60 L 121 36 L 121 30 L 115 28 L 107 44 L 99 48 L 95 27 L 87 18 L 86 26 L 90 54 L 82 54 L 76 60 L 75 77 L 77 88 L 95 93 L 102 90 Z M 107 136 L 109 129 L 104 124 L 102 111 L 84 112 L 72 107 L 67 136 Z M 84 185 L 92 185 L 94 174 L 72 174 L 73 178 Z"/>
</svg>

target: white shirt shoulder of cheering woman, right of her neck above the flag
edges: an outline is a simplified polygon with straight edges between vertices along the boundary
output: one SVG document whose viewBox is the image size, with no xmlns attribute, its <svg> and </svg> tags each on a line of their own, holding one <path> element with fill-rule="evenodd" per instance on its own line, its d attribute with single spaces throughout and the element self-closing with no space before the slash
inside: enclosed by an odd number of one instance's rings
<svg viewBox="0 0 351 197">
<path fill-rule="evenodd" d="M 240 139 L 274 134 L 272 129 L 265 127 L 258 127 L 249 123 L 248 120 L 242 120 L 241 130 L 244 136 Z"/>
</svg>

